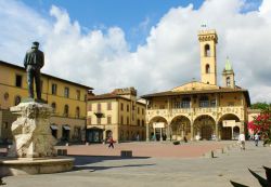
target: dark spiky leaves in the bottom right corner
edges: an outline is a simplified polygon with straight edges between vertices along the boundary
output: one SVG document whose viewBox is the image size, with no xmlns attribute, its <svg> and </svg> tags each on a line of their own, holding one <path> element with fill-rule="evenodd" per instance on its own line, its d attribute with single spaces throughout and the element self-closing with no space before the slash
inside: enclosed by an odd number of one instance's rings
<svg viewBox="0 0 271 187">
<path fill-rule="evenodd" d="M 260 175 L 258 175 L 257 173 L 255 173 L 254 171 L 251 171 L 249 169 L 248 169 L 248 171 L 258 179 L 260 186 L 271 187 L 271 169 L 269 169 L 267 166 L 263 166 L 263 169 L 266 170 L 267 179 L 261 177 Z M 248 186 L 242 185 L 240 183 L 235 183 L 232 181 L 230 181 L 230 182 L 231 182 L 232 186 L 234 186 L 234 187 L 248 187 Z"/>
</svg>

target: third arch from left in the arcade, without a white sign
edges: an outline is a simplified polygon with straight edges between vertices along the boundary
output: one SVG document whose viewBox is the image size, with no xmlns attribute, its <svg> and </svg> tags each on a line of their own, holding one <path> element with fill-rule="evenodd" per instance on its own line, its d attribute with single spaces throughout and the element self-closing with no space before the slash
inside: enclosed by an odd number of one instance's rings
<svg viewBox="0 0 271 187">
<path fill-rule="evenodd" d="M 216 121 L 208 115 L 199 116 L 194 121 L 195 139 L 210 141 L 216 136 Z"/>
</svg>

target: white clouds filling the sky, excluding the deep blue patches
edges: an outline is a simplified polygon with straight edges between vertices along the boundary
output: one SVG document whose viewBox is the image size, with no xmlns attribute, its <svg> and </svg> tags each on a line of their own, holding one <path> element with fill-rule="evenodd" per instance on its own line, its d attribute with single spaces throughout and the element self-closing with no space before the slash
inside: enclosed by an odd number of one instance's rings
<svg viewBox="0 0 271 187">
<path fill-rule="evenodd" d="M 119 27 L 86 29 L 57 6 L 48 19 L 20 1 L 2 0 L 1 59 L 22 62 L 30 42 L 39 40 L 44 72 L 93 86 L 95 93 L 122 86 L 141 94 L 166 91 L 199 80 L 197 30 L 207 24 L 219 37 L 219 80 L 229 55 L 236 83 L 249 90 L 253 102 L 271 102 L 271 3 L 263 0 L 259 11 L 242 13 L 246 6 L 245 0 L 207 0 L 198 10 L 172 8 L 152 27 L 145 44 L 130 52 Z"/>
</svg>

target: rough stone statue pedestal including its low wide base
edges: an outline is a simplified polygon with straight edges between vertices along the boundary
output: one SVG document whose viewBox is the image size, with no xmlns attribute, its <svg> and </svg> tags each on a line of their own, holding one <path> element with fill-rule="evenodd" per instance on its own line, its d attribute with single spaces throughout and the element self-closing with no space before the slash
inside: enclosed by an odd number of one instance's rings
<svg viewBox="0 0 271 187">
<path fill-rule="evenodd" d="M 69 171 L 74 158 L 56 157 L 56 139 L 50 130 L 52 108 L 47 104 L 25 102 L 11 107 L 17 120 L 12 123 L 13 145 L 8 158 L 0 159 L 0 176 Z"/>
</svg>

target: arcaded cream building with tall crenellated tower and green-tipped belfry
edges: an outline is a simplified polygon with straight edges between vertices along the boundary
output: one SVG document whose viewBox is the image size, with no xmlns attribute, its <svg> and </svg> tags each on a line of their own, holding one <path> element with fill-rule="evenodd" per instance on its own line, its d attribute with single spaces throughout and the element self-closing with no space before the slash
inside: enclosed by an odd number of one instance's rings
<svg viewBox="0 0 271 187">
<path fill-rule="evenodd" d="M 216 30 L 201 30 L 198 41 L 201 81 L 142 96 L 147 101 L 146 139 L 234 139 L 245 131 L 248 91 L 235 85 L 229 58 L 218 85 Z"/>
</svg>

